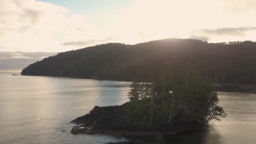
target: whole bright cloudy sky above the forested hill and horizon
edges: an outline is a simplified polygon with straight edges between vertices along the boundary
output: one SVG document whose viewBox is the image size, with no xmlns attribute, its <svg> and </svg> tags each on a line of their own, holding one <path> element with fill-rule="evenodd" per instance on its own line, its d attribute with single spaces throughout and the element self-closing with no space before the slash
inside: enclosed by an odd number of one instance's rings
<svg viewBox="0 0 256 144">
<path fill-rule="evenodd" d="M 0 0 L 0 72 L 101 43 L 255 41 L 256 0 Z"/>
</svg>

